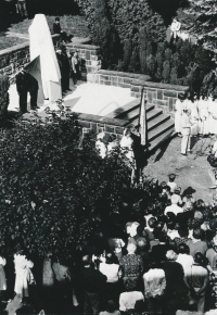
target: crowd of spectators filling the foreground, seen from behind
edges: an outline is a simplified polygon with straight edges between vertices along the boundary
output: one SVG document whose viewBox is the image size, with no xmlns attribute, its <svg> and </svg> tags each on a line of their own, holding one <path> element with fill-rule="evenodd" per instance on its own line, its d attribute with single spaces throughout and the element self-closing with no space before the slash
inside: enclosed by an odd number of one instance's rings
<svg viewBox="0 0 217 315">
<path fill-rule="evenodd" d="M 212 314 L 217 307 L 217 202 L 195 200 L 193 192 L 182 192 L 174 174 L 167 182 L 143 178 L 135 188 L 125 187 L 125 223 L 95 231 L 72 266 L 50 257 L 43 263 L 50 264 L 63 305 L 95 315 Z M 5 264 L 1 256 L 0 290 L 7 289 Z M 24 254 L 14 255 L 14 291 L 21 298 L 37 287 L 33 266 Z"/>
</svg>

